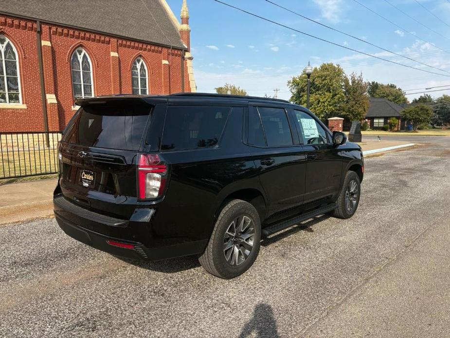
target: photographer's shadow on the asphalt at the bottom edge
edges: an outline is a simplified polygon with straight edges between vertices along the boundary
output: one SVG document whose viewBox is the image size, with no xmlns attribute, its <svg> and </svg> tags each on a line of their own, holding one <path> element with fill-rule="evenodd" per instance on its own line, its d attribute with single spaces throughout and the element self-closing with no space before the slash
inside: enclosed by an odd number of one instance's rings
<svg viewBox="0 0 450 338">
<path fill-rule="evenodd" d="M 280 337 L 275 318 L 273 317 L 272 307 L 269 304 L 256 304 L 252 319 L 244 325 L 239 335 L 239 338 L 246 337 Z"/>
</svg>

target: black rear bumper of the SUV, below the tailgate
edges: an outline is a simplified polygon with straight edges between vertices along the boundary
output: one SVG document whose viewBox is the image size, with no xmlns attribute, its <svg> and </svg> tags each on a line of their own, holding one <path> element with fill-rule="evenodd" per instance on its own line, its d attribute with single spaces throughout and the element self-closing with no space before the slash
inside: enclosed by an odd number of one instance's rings
<svg viewBox="0 0 450 338">
<path fill-rule="evenodd" d="M 117 225 L 111 225 L 111 219 L 108 218 L 106 218 L 108 222 L 105 221 L 104 223 L 99 223 L 102 219 L 104 219 L 103 215 L 93 213 L 92 211 L 83 208 L 81 208 L 83 211 L 76 212 L 76 208 L 73 208 L 70 205 L 65 206 L 65 203 L 60 203 L 61 201 L 57 200 L 58 198 L 63 197 L 61 196 L 54 198 L 54 215 L 59 227 L 67 235 L 76 239 L 77 241 L 88 244 L 96 249 L 108 252 L 113 255 L 138 260 L 158 261 L 169 258 L 199 254 L 203 252 L 207 244 L 207 240 L 201 240 L 167 246 L 147 247 L 139 242 L 139 238 L 136 238 L 137 241 L 129 241 L 121 237 L 110 236 L 104 233 L 92 231 L 87 228 L 92 224 L 92 218 L 96 218 L 97 221 L 95 228 L 98 229 L 103 226 L 105 228 L 105 232 L 108 232 L 110 227 L 117 227 Z M 68 203 L 72 204 L 70 202 Z M 121 227 L 122 233 L 129 230 L 129 223 L 130 222 L 126 221 L 126 225 L 119 225 L 119 227 Z M 131 244 L 133 248 L 128 249 L 117 247 L 108 244 L 108 240 Z"/>
</svg>

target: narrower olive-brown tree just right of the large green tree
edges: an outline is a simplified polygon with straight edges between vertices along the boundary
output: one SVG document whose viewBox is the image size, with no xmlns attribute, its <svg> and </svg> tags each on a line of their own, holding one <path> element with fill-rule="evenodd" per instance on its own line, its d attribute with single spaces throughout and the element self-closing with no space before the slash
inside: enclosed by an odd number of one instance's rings
<svg viewBox="0 0 450 338">
<path fill-rule="evenodd" d="M 368 84 L 363 80 L 362 73 L 352 73 L 344 78 L 344 95 L 341 113 L 350 121 L 360 121 L 369 110 Z"/>
</svg>

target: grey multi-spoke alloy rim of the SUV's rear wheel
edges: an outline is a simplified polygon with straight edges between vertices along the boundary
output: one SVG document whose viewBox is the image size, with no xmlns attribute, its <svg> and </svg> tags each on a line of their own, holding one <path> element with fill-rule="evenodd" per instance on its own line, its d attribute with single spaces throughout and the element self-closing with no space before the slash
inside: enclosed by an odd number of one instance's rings
<svg viewBox="0 0 450 338">
<path fill-rule="evenodd" d="M 252 220 L 247 216 L 235 218 L 223 237 L 225 260 L 233 266 L 244 263 L 252 252 L 254 237 Z"/>
</svg>

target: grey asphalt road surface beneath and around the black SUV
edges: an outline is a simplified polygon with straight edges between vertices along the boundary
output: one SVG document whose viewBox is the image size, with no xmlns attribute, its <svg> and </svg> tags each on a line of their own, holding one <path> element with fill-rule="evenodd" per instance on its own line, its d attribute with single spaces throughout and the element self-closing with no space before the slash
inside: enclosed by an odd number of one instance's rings
<svg viewBox="0 0 450 338">
<path fill-rule="evenodd" d="M 450 337 L 450 137 L 366 159 L 350 220 L 263 242 L 231 281 L 126 262 L 54 220 L 0 227 L 0 337 Z"/>
</svg>

